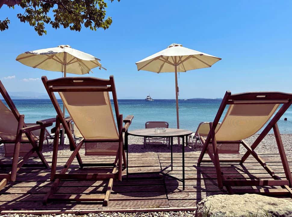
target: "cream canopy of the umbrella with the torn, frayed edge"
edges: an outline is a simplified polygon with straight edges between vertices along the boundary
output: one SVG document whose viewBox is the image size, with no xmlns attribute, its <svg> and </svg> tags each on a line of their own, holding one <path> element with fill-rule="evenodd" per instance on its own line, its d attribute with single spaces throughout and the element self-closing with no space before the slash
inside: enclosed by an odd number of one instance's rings
<svg viewBox="0 0 292 217">
<path fill-rule="evenodd" d="M 69 45 L 28 51 L 18 55 L 16 60 L 33 68 L 64 72 L 65 77 L 66 73 L 88 74 L 92 68 L 103 68 L 100 59 Z"/>
</svg>

